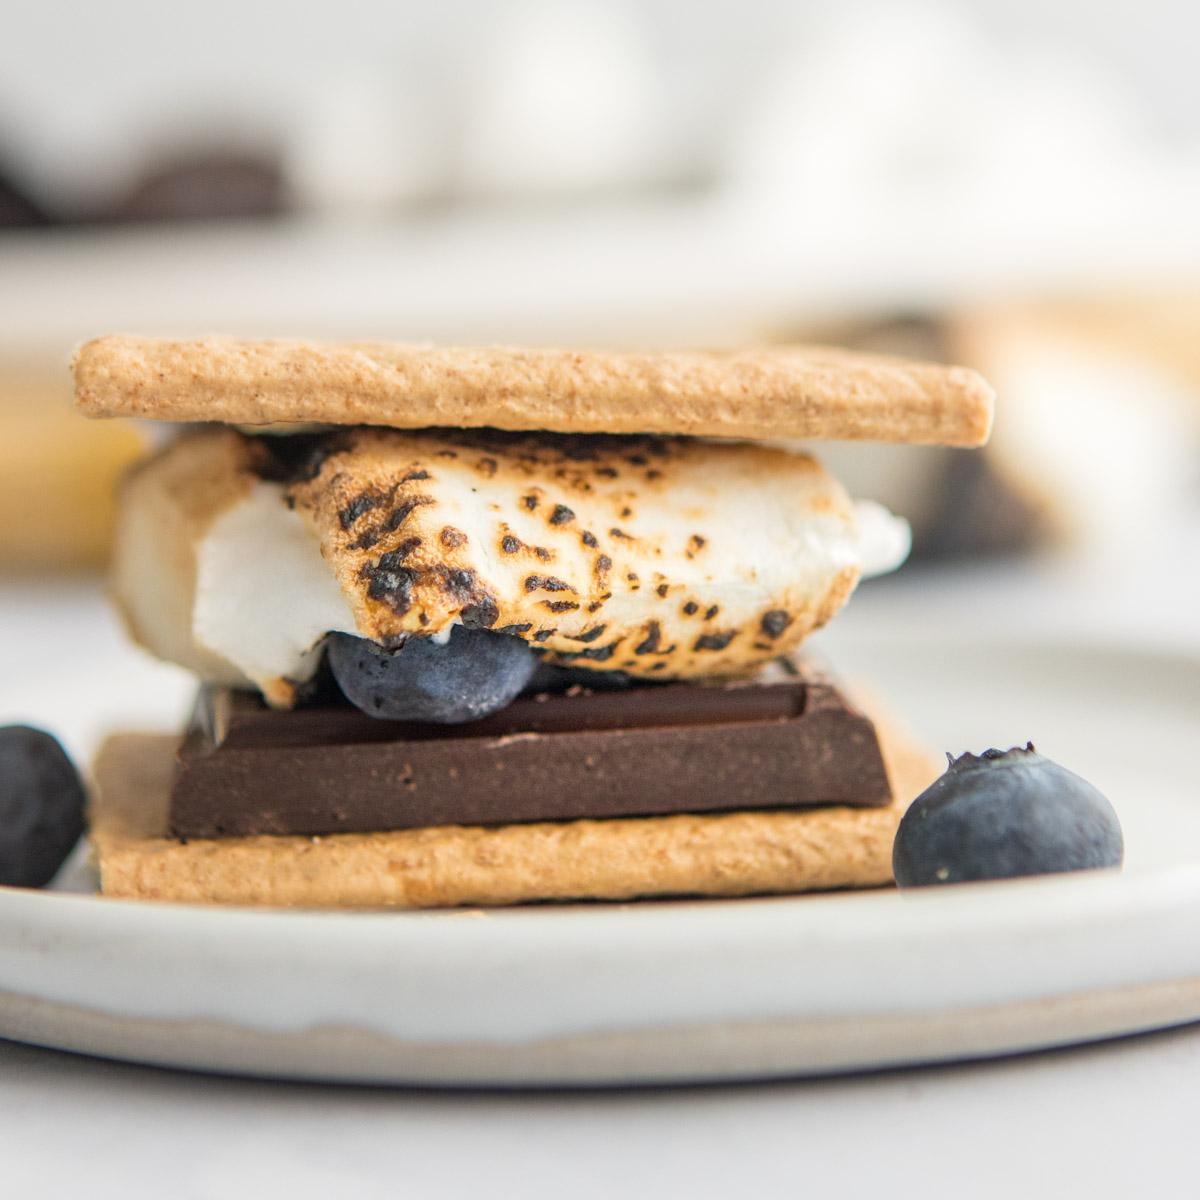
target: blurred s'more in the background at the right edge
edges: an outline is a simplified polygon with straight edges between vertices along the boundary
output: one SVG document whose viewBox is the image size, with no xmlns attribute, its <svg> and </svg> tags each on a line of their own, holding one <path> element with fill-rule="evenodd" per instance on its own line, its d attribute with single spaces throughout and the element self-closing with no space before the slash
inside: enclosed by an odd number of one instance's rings
<svg viewBox="0 0 1200 1200">
<path fill-rule="evenodd" d="M 962 362 L 994 384 L 980 451 L 818 449 L 856 494 L 908 517 L 916 559 L 1120 548 L 1200 503 L 1200 290 L 1014 300 L 803 335 Z"/>
</svg>

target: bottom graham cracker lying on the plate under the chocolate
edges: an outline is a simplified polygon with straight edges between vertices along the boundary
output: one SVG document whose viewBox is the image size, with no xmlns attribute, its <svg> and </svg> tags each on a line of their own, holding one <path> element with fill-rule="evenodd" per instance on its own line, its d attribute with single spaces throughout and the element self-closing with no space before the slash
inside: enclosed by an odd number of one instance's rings
<svg viewBox="0 0 1200 1200">
<path fill-rule="evenodd" d="M 121 734 L 95 766 L 106 895 L 192 904 L 442 908 L 535 900 L 739 896 L 892 881 L 892 840 L 941 768 L 880 728 L 887 808 L 442 826 L 323 838 L 164 836 L 178 739 Z"/>
</svg>

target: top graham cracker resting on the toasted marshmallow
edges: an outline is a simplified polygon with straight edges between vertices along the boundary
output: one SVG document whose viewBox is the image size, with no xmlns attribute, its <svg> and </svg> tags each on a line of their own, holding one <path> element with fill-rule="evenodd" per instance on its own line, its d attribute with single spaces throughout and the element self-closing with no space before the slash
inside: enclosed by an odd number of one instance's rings
<svg viewBox="0 0 1200 1200">
<path fill-rule="evenodd" d="M 977 446 L 992 390 L 966 367 L 823 346 L 612 354 L 378 342 L 101 337 L 89 416 Z"/>
</svg>

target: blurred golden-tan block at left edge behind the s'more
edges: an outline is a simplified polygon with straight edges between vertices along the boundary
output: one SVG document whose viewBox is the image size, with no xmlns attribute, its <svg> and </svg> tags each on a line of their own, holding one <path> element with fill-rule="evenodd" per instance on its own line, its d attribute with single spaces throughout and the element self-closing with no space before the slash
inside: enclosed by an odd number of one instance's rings
<svg viewBox="0 0 1200 1200">
<path fill-rule="evenodd" d="M 0 358 L 0 576 L 103 565 L 114 486 L 146 439 L 73 408 L 66 354 Z"/>
</svg>

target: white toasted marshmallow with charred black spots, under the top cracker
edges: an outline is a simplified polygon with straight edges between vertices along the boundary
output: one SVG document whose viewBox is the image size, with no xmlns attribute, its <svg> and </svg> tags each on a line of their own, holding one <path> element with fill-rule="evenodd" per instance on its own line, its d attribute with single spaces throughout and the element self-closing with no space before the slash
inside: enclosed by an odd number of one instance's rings
<svg viewBox="0 0 1200 1200">
<path fill-rule="evenodd" d="M 764 445 L 355 430 L 300 475 L 257 484 L 197 551 L 194 637 L 260 685 L 311 676 L 330 630 L 456 624 L 559 664 L 742 673 L 910 546 L 906 522 Z"/>
</svg>

